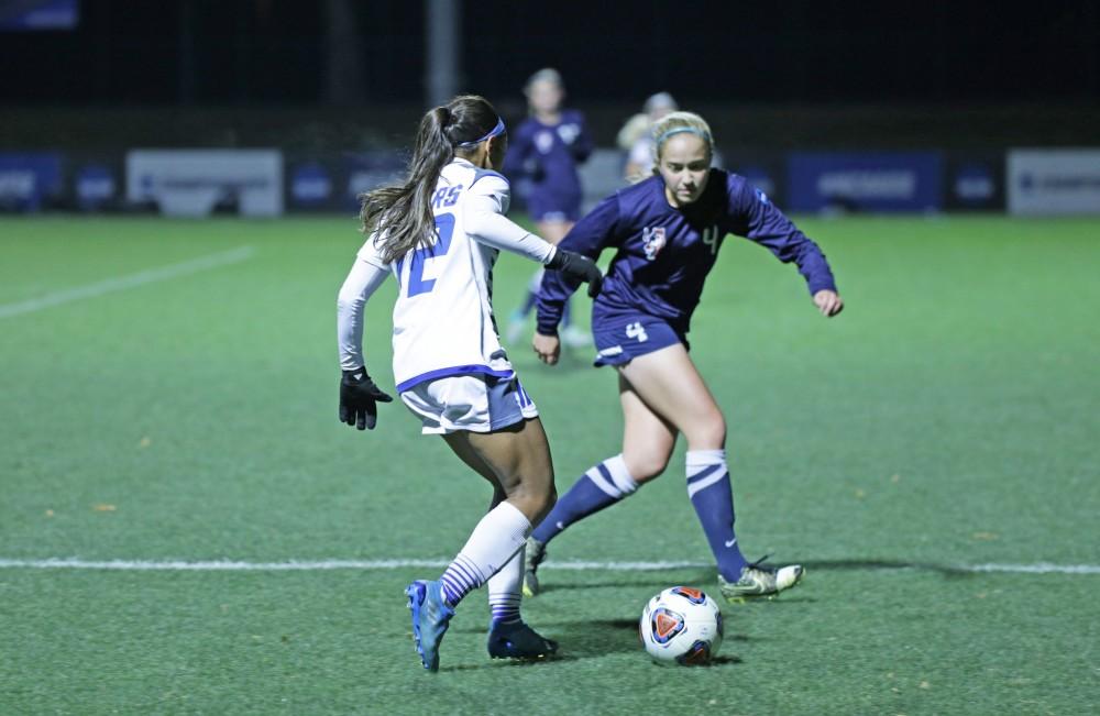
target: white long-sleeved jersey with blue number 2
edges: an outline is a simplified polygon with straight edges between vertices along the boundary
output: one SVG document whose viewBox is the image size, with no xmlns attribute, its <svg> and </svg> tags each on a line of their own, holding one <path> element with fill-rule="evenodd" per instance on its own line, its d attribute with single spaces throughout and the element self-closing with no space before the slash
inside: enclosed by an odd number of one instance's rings
<svg viewBox="0 0 1100 716">
<path fill-rule="evenodd" d="M 498 249 L 543 264 L 556 250 L 504 218 L 509 191 L 499 174 L 454 159 L 443 167 L 432 195 L 438 230 L 432 245 L 387 264 L 376 236 L 367 239 L 341 289 L 344 368 L 363 365 L 362 305 L 382 282 L 381 272 L 389 271 L 399 290 L 393 334 L 398 392 L 448 375 L 513 375 L 493 318 L 493 264 Z"/>
</svg>

